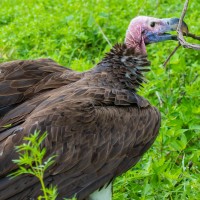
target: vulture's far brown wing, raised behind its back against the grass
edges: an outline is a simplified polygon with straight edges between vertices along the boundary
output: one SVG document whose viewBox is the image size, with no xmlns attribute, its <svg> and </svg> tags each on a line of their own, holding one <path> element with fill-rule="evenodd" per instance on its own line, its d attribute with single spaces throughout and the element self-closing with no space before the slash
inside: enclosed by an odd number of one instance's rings
<svg viewBox="0 0 200 200">
<path fill-rule="evenodd" d="M 11 110 L 13 105 L 27 100 L 26 91 L 46 76 L 53 76 L 54 73 L 61 75 L 67 71 L 71 72 L 70 69 L 59 66 L 50 59 L 13 61 L 0 64 L 0 107 L 4 109 L 0 117 L 6 111 Z M 29 97 L 32 96 L 29 92 Z M 11 106 L 10 109 L 8 109 L 8 106 Z"/>
</svg>

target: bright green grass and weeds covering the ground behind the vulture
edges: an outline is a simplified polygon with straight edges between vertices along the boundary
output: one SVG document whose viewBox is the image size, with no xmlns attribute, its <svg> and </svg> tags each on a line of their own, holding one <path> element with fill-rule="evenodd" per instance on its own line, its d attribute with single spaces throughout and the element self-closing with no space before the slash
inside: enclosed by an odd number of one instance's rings
<svg viewBox="0 0 200 200">
<path fill-rule="evenodd" d="M 123 42 L 134 16 L 179 17 L 183 3 L 1 0 L 0 61 L 50 57 L 83 71 L 102 59 L 109 43 Z M 199 1 L 193 0 L 185 21 L 198 35 L 199 15 Z M 200 53 L 181 48 L 164 69 L 175 45 L 147 48 L 152 70 L 140 94 L 159 108 L 162 127 L 150 151 L 115 181 L 114 200 L 200 199 Z"/>
</svg>

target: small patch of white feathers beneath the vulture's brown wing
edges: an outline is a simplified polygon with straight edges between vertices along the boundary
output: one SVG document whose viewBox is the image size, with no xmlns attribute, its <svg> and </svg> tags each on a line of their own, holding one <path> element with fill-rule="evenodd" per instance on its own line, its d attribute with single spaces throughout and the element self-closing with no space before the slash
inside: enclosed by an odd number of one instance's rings
<svg viewBox="0 0 200 200">
<path fill-rule="evenodd" d="M 89 196 L 89 200 L 112 200 L 112 183 L 107 184 L 101 189 L 96 190 Z"/>
</svg>

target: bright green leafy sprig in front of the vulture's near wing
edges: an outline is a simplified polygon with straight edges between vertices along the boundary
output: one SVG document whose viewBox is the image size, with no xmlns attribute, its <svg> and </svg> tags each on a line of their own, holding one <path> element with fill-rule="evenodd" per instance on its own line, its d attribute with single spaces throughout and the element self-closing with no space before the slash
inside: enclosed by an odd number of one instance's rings
<svg viewBox="0 0 200 200">
<path fill-rule="evenodd" d="M 54 163 L 55 156 L 44 160 L 46 153 L 45 148 L 41 148 L 42 142 L 47 137 L 47 133 L 40 134 L 35 131 L 29 137 L 24 138 L 24 143 L 16 146 L 16 151 L 19 153 L 19 159 L 13 160 L 18 165 L 18 170 L 11 173 L 9 176 L 14 178 L 22 174 L 31 174 L 36 176 L 42 187 L 43 196 L 39 196 L 38 200 L 55 200 L 58 193 L 55 186 L 45 187 L 44 175 L 45 171 Z"/>
</svg>

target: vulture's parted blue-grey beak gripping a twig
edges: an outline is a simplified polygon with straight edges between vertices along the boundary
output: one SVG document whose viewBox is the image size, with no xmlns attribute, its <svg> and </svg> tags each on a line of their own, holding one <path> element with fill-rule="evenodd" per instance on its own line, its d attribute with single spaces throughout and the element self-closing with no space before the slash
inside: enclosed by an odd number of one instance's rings
<svg viewBox="0 0 200 200">
<path fill-rule="evenodd" d="M 144 41 L 145 44 L 162 42 L 166 40 L 177 40 L 176 35 L 171 35 L 168 32 L 176 31 L 179 19 L 178 18 L 165 18 L 160 19 L 159 22 L 156 22 L 156 28 L 152 30 L 144 31 Z M 182 32 L 188 34 L 188 26 L 185 22 L 181 26 Z"/>
</svg>

